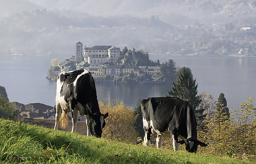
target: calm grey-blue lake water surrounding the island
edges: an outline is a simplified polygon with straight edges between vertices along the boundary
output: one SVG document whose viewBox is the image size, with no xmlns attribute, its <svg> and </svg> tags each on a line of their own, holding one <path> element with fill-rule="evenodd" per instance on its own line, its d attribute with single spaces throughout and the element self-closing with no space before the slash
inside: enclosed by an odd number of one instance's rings
<svg viewBox="0 0 256 164">
<path fill-rule="evenodd" d="M 51 59 L 63 56 L 0 56 L 0 85 L 5 87 L 9 101 L 22 104 L 40 102 L 55 105 L 56 82 L 45 76 Z M 179 67 L 189 67 L 198 83 L 198 93 L 205 91 L 218 99 L 224 93 L 228 108 L 237 109 L 249 96 L 256 97 L 256 58 L 152 56 L 160 63 L 174 60 Z M 165 96 L 170 85 L 96 83 L 98 100 L 118 98 L 133 108 L 140 99 Z"/>
</svg>

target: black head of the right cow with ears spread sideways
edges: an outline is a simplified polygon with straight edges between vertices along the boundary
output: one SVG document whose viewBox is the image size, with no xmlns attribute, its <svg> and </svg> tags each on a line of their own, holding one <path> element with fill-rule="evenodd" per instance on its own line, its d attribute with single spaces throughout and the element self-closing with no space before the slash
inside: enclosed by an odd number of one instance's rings
<svg viewBox="0 0 256 164">
<path fill-rule="evenodd" d="M 185 140 L 180 140 L 178 143 L 186 145 L 186 150 L 189 153 L 197 153 L 197 146 L 206 147 L 207 145 L 196 138 L 187 138 Z"/>
</svg>

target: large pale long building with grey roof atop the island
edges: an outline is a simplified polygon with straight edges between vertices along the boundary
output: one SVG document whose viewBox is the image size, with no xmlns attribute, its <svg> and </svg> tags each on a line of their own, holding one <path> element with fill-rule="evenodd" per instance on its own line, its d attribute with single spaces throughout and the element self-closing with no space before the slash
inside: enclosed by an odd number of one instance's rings
<svg viewBox="0 0 256 164">
<path fill-rule="evenodd" d="M 106 61 L 113 63 L 120 57 L 120 48 L 114 46 L 93 46 L 84 48 L 84 61 L 90 65 L 100 65 Z"/>
</svg>

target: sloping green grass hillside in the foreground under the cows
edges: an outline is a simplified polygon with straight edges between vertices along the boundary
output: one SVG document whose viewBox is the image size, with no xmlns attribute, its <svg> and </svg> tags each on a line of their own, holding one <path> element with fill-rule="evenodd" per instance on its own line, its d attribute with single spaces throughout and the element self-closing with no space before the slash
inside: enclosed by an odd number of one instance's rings
<svg viewBox="0 0 256 164">
<path fill-rule="evenodd" d="M 0 163 L 251 163 L 32 126 L 0 119 Z"/>
</svg>

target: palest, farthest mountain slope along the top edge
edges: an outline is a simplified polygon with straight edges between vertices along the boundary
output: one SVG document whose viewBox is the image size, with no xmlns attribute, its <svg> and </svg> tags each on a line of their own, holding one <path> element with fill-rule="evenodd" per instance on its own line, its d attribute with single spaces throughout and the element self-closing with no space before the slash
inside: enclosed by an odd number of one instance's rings
<svg viewBox="0 0 256 164">
<path fill-rule="evenodd" d="M 30 0 L 50 9 L 71 10 L 97 16 L 132 15 L 158 16 L 168 24 L 187 20 L 209 22 L 230 19 L 232 16 L 255 14 L 255 0 Z M 177 17 L 177 18 L 175 18 Z M 179 22 L 177 21 L 179 19 Z"/>
</svg>

